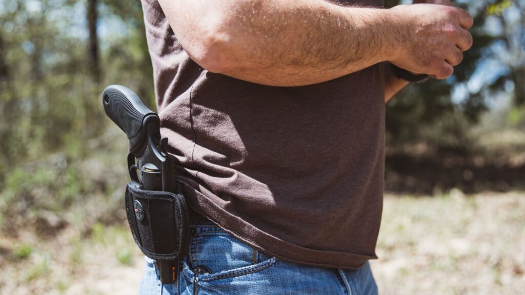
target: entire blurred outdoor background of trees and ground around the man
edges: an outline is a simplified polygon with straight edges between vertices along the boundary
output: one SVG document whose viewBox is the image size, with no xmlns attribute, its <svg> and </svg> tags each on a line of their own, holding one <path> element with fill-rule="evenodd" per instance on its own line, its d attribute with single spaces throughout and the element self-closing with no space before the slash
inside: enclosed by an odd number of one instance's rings
<svg viewBox="0 0 525 295">
<path fill-rule="evenodd" d="M 474 47 L 386 107 L 382 294 L 525 294 L 525 1 L 455 4 Z M 138 292 L 110 84 L 155 108 L 140 1 L 0 0 L 1 294 Z"/>
</svg>

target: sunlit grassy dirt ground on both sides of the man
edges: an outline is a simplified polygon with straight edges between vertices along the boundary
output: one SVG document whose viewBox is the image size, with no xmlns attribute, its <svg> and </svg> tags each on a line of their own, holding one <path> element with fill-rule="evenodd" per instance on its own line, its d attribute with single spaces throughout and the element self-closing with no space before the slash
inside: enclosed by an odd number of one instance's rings
<svg viewBox="0 0 525 295">
<path fill-rule="evenodd" d="M 388 195 L 377 256 L 380 294 L 525 294 L 525 194 Z M 144 265 L 125 225 L 0 235 L 0 294 L 137 294 Z"/>
</svg>

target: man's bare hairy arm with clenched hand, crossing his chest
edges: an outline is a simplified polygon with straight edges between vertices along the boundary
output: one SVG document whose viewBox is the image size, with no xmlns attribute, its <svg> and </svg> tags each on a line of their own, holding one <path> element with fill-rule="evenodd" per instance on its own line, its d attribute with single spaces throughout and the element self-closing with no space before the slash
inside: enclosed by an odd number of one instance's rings
<svg viewBox="0 0 525 295">
<path fill-rule="evenodd" d="M 376 9 L 324 0 L 159 2 L 197 64 L 271 86 L 311 85 L 382 61 L 444 79 L 471 44 L 470 15 L 441 5 Z"/>
</svg>

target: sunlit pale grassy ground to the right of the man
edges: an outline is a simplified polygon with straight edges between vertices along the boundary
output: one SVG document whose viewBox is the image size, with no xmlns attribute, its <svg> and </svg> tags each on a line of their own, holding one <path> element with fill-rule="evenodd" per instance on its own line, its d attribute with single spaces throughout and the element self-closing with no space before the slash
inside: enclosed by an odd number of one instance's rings
<svg viewBox="0 0 525 295">
<path fill-rule="evenodd" d="M 381 294 L 525 294 L 525 194 L 387 197 Z"/>
</svg>

